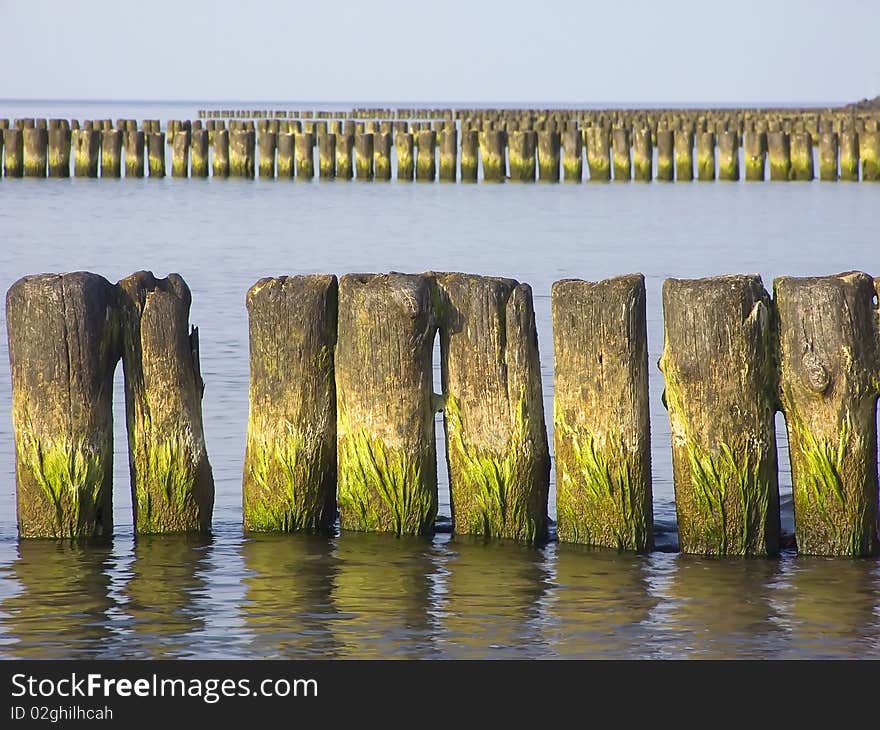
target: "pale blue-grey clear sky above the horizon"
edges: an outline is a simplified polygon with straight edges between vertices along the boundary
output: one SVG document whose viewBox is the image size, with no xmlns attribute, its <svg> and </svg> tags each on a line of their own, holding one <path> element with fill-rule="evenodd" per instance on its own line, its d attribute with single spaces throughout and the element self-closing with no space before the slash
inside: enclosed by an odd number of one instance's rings
<svg viewBox="0 0 880 730">
<path fill-rule="evenodd" d="M 0 0 L 3 99 L 832 103 L 880 0 Z"/>
</svg>

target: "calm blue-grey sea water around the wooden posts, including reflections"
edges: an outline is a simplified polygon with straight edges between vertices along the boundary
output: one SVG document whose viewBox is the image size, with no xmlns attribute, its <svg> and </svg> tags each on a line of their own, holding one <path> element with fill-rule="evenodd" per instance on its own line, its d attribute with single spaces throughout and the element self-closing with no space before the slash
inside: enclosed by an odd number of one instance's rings
<svg viewBox="0 0 880 730">
<path fill-rule="evenodd" d="M 0 116 L 164 120 L 193 117 L 196 108 L 6 104 Z M 19 543 L 4 316 L 0 657 L 880 658 L 880 561 L 675 552 L 669 426 L 656 369 L 664 278 L 760 273 L 769 289 L 782 274 L 880 274 L 878 211 L 880 185 L 820 182 L 0 180 L 3 291 L 25 274 L 80 269 L 111 281 L 138 269 L 176 271 L 189 283 L 217 489 L 210 538 L 135 543 L 120 367 L 113 543 Z M 446 534 L 243 534 L 247 288 L 267 275 L 427 269 L 532 285 L 548 419 L 552 282 L 645 274 L 660 550 L 534 549 Z M 435 379 L 439 389 L 436 359 Z M 781 418 L 777 428 L 790 532 Z M 448 516 L 438 453 L 440 511 Z M 554 501 L 551 488 L 551 516 Z"/>
</svg>

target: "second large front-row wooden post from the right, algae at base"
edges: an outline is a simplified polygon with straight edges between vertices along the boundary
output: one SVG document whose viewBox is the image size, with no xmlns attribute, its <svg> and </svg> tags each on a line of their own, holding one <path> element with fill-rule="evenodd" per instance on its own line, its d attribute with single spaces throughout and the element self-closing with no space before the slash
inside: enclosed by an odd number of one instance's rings
<svg viewBox="0 0 880 730">
<path fill-rule="evenodd" d="M 771 307 L 759 276 L 663 284 L 660 370 L 682 552 L 778 551 Z"/>
</svg>

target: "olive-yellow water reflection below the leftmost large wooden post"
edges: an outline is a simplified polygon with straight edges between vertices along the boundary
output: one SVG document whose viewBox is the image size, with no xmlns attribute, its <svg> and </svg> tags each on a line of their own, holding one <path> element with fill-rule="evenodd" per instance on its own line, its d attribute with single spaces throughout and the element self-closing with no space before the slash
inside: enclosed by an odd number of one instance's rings
<svg viewBox="0 0 880 730">
<path fill-rule="evenodd" d="M 22 590 L 0 604 L 0 656 L 110 658 L 111 544 L 22 540 L 17 549 L 8 574 Z"/>
</svg>

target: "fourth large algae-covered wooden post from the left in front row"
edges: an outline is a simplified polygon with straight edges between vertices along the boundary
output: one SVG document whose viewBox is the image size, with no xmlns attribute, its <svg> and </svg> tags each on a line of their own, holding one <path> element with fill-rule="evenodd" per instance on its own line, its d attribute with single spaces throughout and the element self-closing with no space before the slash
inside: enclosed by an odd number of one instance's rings
<svg viewBox="0 0 880 730">
<path fill-rule="evenodd" d="M 337 501 L 343 529 L 429 533 L 437 514 L 430 276 L 339 280 Z"/>
</svg>

